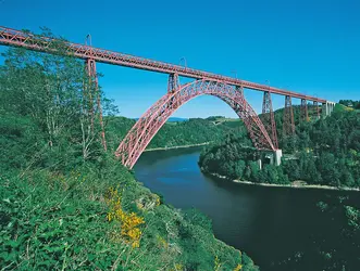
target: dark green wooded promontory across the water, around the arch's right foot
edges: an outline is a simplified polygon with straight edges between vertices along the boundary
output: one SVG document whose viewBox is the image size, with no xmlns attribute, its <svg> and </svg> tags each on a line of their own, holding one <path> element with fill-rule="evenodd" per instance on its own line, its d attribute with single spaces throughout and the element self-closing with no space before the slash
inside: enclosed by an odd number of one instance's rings
<svg viewBox="0 0 360 271">
<path fill-rule="evenodd" d="M 295 137 L 280 141 L 285 153 L 281 167 L 265 165 L 260 170 L 256 160 L 264 154 L 244 147 L 250 145 L 245 134 L 228 137 L 207 146 L 199 165 L 206 172 L 251 182 L 360 186 L 360 113 L 342 111 L 301 122 Z"/>
</svg>

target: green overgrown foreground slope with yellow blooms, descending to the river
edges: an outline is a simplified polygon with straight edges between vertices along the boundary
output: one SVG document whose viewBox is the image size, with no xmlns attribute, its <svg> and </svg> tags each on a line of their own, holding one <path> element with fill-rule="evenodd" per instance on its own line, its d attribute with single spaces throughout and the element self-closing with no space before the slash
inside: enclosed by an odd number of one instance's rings
<svg viewBox="0 0 360 271">
<path fill-rule="evenodd" d="M 1 177 L 0 196 L 7 270 L 258 270 L 206 216 L 167 206 L 115 162 Z"/>
</svg>

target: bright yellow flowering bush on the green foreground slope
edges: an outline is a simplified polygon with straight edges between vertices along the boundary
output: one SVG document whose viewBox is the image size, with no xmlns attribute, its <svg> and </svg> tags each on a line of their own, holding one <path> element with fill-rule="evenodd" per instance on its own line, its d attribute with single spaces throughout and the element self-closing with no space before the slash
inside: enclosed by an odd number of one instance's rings
<svg viewBox="0 0 360 271">
<path fill-rule="evenodd" d="M 110 208 L 108 212 L 108 221 L 119 221 L 121 223 L 120 235 L 125 238 L 126 242 L 132 244 L 133 247 L 140 246 L 141 230 L 138 228 L 145 223 L 144 218 L 137 216 L 135 212 L 126 212 L 122 208 L 121 194 L 117 189 L 111 188 L 105 197 L 105 202 Z M 117 238 L 117 234 L 114 237 Z"/>
</svg>

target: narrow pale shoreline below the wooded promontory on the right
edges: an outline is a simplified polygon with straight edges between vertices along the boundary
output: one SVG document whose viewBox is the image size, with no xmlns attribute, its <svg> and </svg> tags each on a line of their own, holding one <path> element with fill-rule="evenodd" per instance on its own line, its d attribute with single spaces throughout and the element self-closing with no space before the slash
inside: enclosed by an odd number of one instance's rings
<svg viewBox="0 0 360 271">
<path fill-rule="evenodd" d="M 202 168 L 201 168 L 201 171 L 202 171 Z M 221 175 L 212 173 L 212 172 L 204 172 L 204 173 L 211 175 L 211 176 L 220 178 L 220 179 L 225 179 L 225 180 L 228 180 L 232 182 L 248 184 L 248 185 L 289 188 L 289 189 L 321 189 L 321 190 L 336 190 L 336 191 L 360 191 L 360 189 L 355 189 L 355 188 L 336 188 L 336 186 L 330 186 L 330 185 L 302 184 L 303 182 L 298 182 L 298 181 L 294 181 L 290 184 L 256 183 L 256 182 L 241 181 L 241 180 L 236 180 L 236 179 L 232 180 L 231 178 L 228 178 L 226 176 L 221 176 Z"/>
</svg>

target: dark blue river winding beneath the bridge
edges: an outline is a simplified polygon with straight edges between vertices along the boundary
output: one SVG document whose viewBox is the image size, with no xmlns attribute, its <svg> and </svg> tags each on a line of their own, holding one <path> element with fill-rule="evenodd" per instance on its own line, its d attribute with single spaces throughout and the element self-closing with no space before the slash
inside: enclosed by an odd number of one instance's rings
<svg viewBox="0 0 360 271">
<path fill-rule="evenodd" d="M 167 204 L 208 215 L 215 236 L 246 251 L 261 270 L 273 270 L 273 262 L 306 250 L 307 241 L 326 229 L 315 207 L 325 194 L 358 193 L 256 186 L 208 177 L 197 164 L 200 150 L 146 152 L 135 165 L 136 178 Z"/>
</svg>

